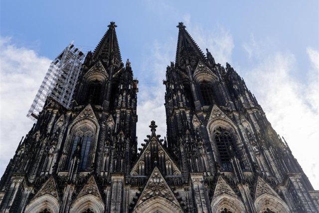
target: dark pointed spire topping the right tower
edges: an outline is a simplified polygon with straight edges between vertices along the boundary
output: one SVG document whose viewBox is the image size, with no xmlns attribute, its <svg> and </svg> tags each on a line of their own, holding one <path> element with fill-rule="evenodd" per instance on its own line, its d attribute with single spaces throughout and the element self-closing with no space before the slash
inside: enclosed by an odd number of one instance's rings
<svg viewBox="0 0 319 213">
<path fill-rule="evenodd" d="M 175 63 L 179 68 L 186 69 L 185 65 L 188 60 L 189 64 L 194 69 L 199 59 L 202 61 L 205 60 L 205 55 L 185 29 L 186 26 L 183 22 L 179 22 L 177 27 L 179 28 L 179 31 Z"/>
</svg>

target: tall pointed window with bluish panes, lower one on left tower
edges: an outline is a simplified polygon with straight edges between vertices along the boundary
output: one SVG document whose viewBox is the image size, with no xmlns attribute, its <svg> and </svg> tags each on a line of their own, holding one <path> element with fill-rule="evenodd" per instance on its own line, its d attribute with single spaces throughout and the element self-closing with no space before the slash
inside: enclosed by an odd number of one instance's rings
<svg viewBox="0 0 319 213">
<path fill-rule="evenodd" d="M 92 147 L 92 141 L 94 137 L 93 130 L 88 126 L 80 127 L 76 130 L 74 137 L 73 137 L 73 145 L 71 150 L 71 157 L 69 160 L 68 168 L 71 166 L 71 160 L 74 156 L 74 152 L 76 150 L 76 147 L 80 147 L 80 164 L 79 164 L 79 171 L 86 171 L 89 169 L 89 156 L 90 156 L 90 150 Z"/>
</svg>

